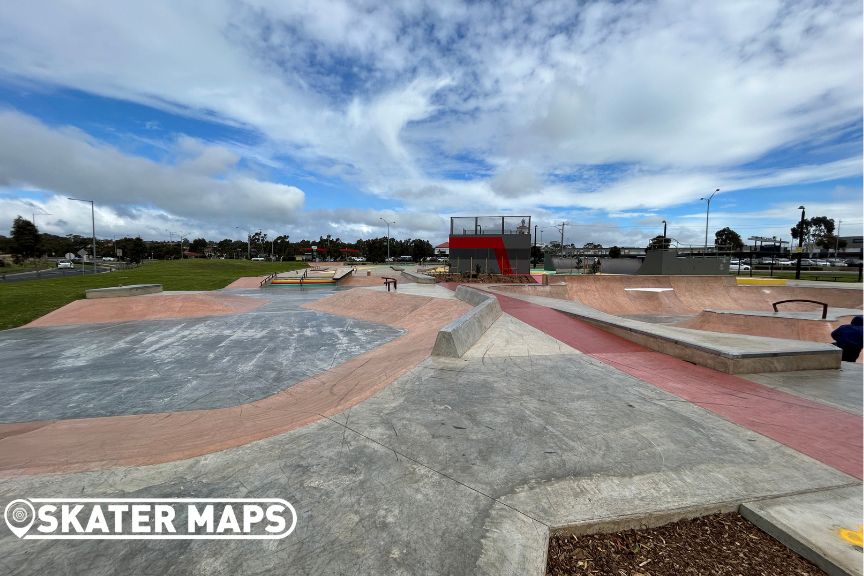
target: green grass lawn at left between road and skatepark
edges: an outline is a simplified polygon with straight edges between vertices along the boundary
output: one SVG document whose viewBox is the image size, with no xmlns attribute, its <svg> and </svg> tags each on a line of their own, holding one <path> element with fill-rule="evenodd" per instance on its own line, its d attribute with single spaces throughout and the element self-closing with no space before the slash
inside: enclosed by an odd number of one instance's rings
<svg viewBox="0 0 864 576">
<path fill-rule="evenodd" d="M 263 276 L 305 266 L 303 262 L 166 260 L 105 274 L 0 282 L 0 329 L 22 326 L 73 300 L 80 300 L 88 288 L 162 284 L 163 290 L 217 290 L 242 276 Z"/>
</svg>

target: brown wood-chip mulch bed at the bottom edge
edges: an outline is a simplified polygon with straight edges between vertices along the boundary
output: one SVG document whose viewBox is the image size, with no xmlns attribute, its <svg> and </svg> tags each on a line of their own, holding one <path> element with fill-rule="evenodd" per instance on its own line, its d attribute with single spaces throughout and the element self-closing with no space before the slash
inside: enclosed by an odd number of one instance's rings
<svg viewBox="0 0 864 576">
<path fill-rule="evenodd" d="M 547 576 L 824 575 L 738 514 L 613 534 L 553 534 Z"/>
</svg>

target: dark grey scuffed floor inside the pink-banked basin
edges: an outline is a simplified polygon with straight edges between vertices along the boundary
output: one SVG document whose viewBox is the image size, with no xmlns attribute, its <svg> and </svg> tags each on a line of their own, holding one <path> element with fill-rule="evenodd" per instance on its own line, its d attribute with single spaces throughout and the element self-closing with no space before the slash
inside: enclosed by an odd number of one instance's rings
<svg viewBox="0 0 864 576">
<path fill-rule="evenodd" d="M 272 294 L 248 314 L 0 332 L 0 422 L 233 406 L 392 340 L 395 328 Z"/>
</svg>

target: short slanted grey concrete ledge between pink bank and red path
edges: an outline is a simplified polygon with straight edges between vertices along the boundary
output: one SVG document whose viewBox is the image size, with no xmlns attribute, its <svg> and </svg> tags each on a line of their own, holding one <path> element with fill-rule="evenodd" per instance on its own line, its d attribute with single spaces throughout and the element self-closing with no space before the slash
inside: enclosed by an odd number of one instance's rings
<svg viewBox="0 0 864 576">
<path fill-rule="evenodd" d="M 433 356 L 461 358 L 501 316 L 501 305 L 491 294 L 459 286 L 456 298 L 474 307 L 438 331 Z"/>
</svg>

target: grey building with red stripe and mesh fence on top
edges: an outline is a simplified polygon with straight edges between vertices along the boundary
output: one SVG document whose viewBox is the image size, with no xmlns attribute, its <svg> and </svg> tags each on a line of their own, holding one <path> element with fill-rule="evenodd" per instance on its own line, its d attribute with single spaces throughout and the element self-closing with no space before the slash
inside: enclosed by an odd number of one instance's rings
<svg viewBox="0 0 864 576">
<path fill-rule="evenodd" d="M 450 218 L 450 272 L 529 274 L 530 216 Z"/>
</svg>

